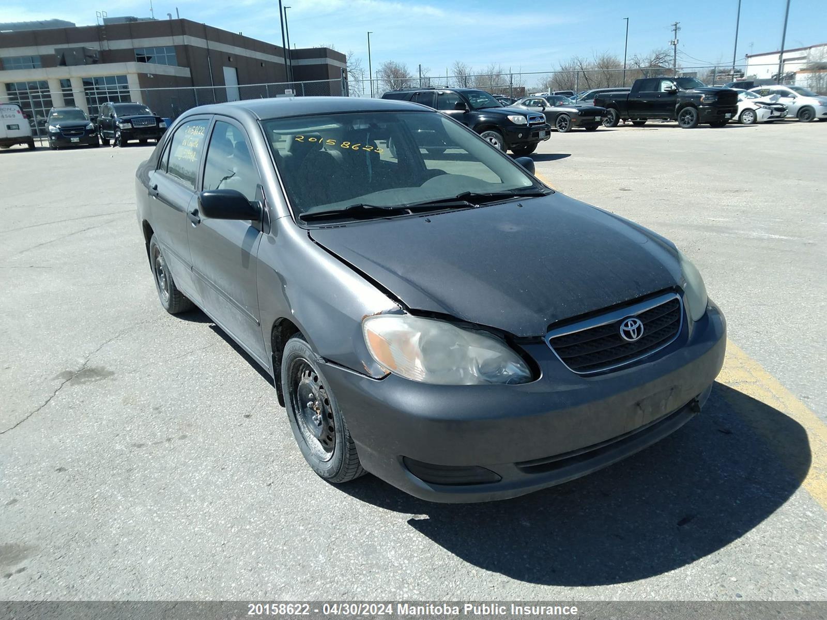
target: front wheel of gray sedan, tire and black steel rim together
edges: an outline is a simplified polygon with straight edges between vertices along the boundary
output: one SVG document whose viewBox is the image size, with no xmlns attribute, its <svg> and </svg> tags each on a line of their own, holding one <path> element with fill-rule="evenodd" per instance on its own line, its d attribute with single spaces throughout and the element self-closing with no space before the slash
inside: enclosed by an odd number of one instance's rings
<svg viewBox="0 0 827 620">
<path fill-rule="evenodd" d="M 287 341 L 280 377 L 284 408 L 299 450 L 313 471 L 327 482 L 350 482 L 365 470 L 317 358 L 301 336 Z"/>
</svg>

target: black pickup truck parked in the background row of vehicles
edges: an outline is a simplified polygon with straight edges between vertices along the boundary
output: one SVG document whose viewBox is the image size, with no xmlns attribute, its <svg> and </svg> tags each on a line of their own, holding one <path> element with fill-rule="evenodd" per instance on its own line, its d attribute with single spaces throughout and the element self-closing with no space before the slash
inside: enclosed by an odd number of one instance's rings
<svg viewBox="0 0 827 620">
<path fill-rule="evenodd" d="M 643 78 L 634 80 L 630 93 L 602 93 L 595 106 L 605 107 L 604 126 L 623 119 L 642 126 L 650 119 L 677 121 L 684 129 L 701 122 L 723 127 L 738 112 L 738 93 L 712 88 L 695 78 Z"/>
</svg>

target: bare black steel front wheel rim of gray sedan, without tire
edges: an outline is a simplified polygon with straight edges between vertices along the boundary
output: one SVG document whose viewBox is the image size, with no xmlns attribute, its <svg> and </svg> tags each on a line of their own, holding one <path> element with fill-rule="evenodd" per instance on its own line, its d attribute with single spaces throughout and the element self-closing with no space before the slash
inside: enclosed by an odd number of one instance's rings
<svg viewBox="0 0 827 620">
<path fill-rule="evenodd" d="M 336 424 L 327 389 L 308 360 L 290 368 L 290 400 L 302 439 L 318 460 L 330 460 L 336 449 Z"/>
</svg>

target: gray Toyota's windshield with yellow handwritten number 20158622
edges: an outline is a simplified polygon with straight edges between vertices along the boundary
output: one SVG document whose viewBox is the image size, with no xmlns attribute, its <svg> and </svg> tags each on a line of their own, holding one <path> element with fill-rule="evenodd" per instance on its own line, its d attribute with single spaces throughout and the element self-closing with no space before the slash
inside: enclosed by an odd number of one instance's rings
<svg viewBox="0 0 827 620">
<path fill-rule="evenodd" d="M 348 112 L 263 126 L 297 217 L 541 189 L 508 157 L 435 112 Z"/>
</svg>

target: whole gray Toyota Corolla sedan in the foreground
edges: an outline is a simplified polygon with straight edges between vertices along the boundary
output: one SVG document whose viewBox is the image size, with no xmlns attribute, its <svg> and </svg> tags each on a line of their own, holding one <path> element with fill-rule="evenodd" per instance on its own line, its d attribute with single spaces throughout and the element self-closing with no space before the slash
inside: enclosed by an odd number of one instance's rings
<svg viewBox="0 0 827 620">
<path fill-rule="evenodd" d="M 414 103 L 224 103 L 138 169 L 138 221 L 161 304 L 270 373 L 318 475 L 486 501 L 662 439 L 724 360 L 670 241 L 532 171 Z"/>
</svg>

